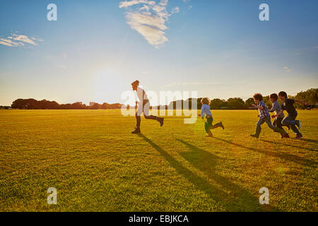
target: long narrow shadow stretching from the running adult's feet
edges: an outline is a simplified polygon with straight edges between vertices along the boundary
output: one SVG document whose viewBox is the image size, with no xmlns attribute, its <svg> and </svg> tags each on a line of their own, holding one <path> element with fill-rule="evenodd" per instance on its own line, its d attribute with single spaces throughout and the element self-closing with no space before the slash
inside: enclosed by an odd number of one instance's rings
<svg viewBox="0 0 318 226">
<path fill-rule="evenodd" d="M 139 133 L 139 136 L 143 138 L 143 140 L 145 140 L 147 143 L 149 143 L 153 148 L 155 148 L 155 150 L 157 150 L 158 153 L 163 155 L 165 160 L 167 160 L 167 162 L 169 162 L 169 164 L 172 167 L 174 167 L 179 174 L 182 174 L 185 178 L 187 178 L 189 182 L 194 184 L 194 186 L 196 186 L 197 189 L 203 191 L 205 194 L 210 196 L 214 201 L 216 201 L 216 203 L 221 203 L 226 210 L 242 211 L 242 206 L 240 206 L 239 203 L 236 203 L 232 197 L 229 197 L 228 193 L 212 186 L 204 178 L 194 174 L 194 172 L 184 167 L 180 162 L 178 162 L 174 157 L 172 157 L 172 155 L 163 150 L 163 148 L 160 148 L 160 146 L 153 143 L 153 141 L 144 136 L 142 133 Z M 231 199 L 230 202 L 228 201 L 229 198 Z M 254 210 L 256 209 L 257 207 L 254 206 Z M 258 210 L 262 210 L 262 207 L 258 206 Z"/>
</svg>

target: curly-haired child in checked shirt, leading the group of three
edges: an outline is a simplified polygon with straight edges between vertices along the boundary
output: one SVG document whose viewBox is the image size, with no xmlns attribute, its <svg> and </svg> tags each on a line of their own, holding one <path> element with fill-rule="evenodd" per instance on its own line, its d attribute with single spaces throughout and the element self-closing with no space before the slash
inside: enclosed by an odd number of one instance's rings
<svg viewBox="0 0 318 226">
<path fill-rule="evenodd" d="M 255 93 L 253 97 L 254 102 L 257 103 L 257 105 L 252 106 L 259 109 L 259 121 L 257 121 L 255 134 L 252 134 L 251 136 L 259 138 L 259 134 L 261 133 L 261 124 L 264 124 L 264 122 L 266 122 L 267 126 L 269 126 L 269 128 L 271 128 L 274 132 L 281 133 L 282 138 L 287 138 L 287 133 L 283 129 L 279 129 L 271 124 L 271 115 L 269 114 L 266 104 L 263 101 L 263 96 L 260 93 Z"/>
</svg>

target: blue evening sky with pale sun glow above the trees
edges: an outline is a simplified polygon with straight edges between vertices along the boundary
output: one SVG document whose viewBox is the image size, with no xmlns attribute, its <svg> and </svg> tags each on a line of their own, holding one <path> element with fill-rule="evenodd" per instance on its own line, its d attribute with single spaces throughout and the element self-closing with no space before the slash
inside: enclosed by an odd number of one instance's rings
<svg viewBox="0 0 318 226">
<path fill-rule="evenodd" d="M 52 3 L 57 20 L 47 20 Z M 264 3 L 268 21 L 259 20 Z M 135 80 L 146 91 L 211 99 L 317 88 L 317 8 L 317 0 L 3 0 L 0 105 L 124 102 Z"/>
</svg>

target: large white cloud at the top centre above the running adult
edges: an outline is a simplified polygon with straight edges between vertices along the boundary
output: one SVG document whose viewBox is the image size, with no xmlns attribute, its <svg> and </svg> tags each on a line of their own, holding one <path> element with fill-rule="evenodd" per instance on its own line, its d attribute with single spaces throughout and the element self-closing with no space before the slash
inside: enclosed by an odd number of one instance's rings
<svg viewBox="0 0 318 226">
<path fill-rule="evenodd" d="M 179 7 L 167 12 L 168 0 L 155 1 L 131 0 L 121 1 L 119 8 L 135 6 L 131 11 L 126 12 L 127 23 L 130 27 L 139 32 L 149 44 L 159 48 L 168 41 L 165 36 L 167 25 L 165 23 L 174 13 L 179 13 Z"/>
</svg>

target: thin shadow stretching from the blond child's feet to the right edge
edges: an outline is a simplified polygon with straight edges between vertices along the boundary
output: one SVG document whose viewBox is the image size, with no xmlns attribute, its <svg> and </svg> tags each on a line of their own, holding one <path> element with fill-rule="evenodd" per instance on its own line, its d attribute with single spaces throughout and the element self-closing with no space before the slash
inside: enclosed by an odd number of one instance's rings
<svg viewBox="0 0 318 226">
<path fill-rule="evenodd" d="M 297 155 L 292 155 L 292 154 L 288 154 L 288 153 L 278 153 L 278 152 L 273 152 L 273 151 L 270 151 L 270 150 L 260 150 L 260 149 L 257 149 L 257 148 L 245 147 L 244 145 L 241 145 L 241 144 L 238 144 L 238 143 L 233 143 L 231 141 L 226 141 L 226 140 L 223 140 L 221 138 L 217 138 L 217 137 L 214 137 L 214 138 L 219 140 L 219 141 L 223 141 L 225 143 L 230 143 L 231 145 L 235 145 L 235 146 L 240 147 L 240 148 L 245 148 L 247 150 L 252 150 L 252 151 L 255 151 L 255 152 L 258 152 L 258 153 L 262 153 L 264 155 L 269 155 L 271 157 L 279 157 L 279 158 L 281 158 L 283 160 L 288 160 L 288 161 L 291 161 L 291 162 L 295 162 L 295 163 L 298 163 L 300 165 L 310 165 L 311 167 L 317 167 L 317 162 L 314 162 L 312 160 L 307 160 L 304 157 L 300 157 L 300 156 L 297 156 Z"/>
</svg>

